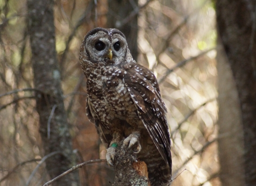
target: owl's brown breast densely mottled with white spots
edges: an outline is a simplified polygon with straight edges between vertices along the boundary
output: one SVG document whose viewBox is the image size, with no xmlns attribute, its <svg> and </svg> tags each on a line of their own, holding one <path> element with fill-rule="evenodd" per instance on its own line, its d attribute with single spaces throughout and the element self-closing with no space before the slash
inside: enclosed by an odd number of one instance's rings
<svg viewBox="0 0 256 186">
<path fill-rule="evenodd" d="M 92 115 L 103 123 L 116 118 L 138 117 L 137 108 L 123 83 L 125 73 L 118 66 L 98 66 L 87 79 Z"/>
</svg>

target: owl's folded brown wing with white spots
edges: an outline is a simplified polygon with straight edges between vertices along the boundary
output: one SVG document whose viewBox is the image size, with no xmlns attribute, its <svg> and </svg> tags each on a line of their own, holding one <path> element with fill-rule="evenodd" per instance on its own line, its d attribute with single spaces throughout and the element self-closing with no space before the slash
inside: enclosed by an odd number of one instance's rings
<svg viewBox="0 0 256 186">
<path fill-rule="evenodd" d="M 138 114 L 166 164 L 172 166 L 171 141 L 166 121 L 166 107 L 155 75 L 136 63 L 124 65 L 123 82 L 130 92 Z"/>
</svg>

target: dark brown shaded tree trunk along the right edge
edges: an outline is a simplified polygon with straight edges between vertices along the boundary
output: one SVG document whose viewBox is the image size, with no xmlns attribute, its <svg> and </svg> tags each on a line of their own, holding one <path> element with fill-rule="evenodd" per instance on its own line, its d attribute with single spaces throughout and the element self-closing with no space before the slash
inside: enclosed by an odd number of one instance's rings
<svg viewBox="0 0 256 186">
<path fill-rule="evenodd" d="M 234 75 L 242 114 L 245 185 L 256 185 L 255 3 L 216 3 L 218 32 Z"/>
</svg>

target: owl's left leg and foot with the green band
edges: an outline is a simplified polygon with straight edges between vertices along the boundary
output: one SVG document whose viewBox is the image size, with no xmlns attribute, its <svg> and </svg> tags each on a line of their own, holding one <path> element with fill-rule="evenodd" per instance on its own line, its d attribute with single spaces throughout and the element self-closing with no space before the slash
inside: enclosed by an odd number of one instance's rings
<svg viewBox="0 0 256 186">
<path fill-rule="evenodd" d="M 113 133 L 113 140 L 110 142 L 109 148 L 107 149 L 106 159 L 109 166 L 114 166 L 113 161 L 115 158 L 116 147 L 118 143 L 122 140 L 120 132 Z"/>
</svg>

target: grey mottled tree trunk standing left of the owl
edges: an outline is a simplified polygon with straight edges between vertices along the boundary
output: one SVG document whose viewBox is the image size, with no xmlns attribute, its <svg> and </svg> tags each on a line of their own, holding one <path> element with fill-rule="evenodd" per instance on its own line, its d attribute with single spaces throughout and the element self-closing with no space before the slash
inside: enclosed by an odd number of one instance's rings
<svg viewBox="0 0 256 186">
<path fill-rule="evenodd" d="M 54 2 L 29 0 L 27 5 L 34 83 L 36 89 L 44 92 L 36 94 L 44 154 L 60 152 L 46 159 L 47 172 L 53 179 L 76 163 L 75 155 L 72 153 L 55 51 Z M 78 174 L 72 172 L 53 185 L 78 185 Z"/>
</svg>

